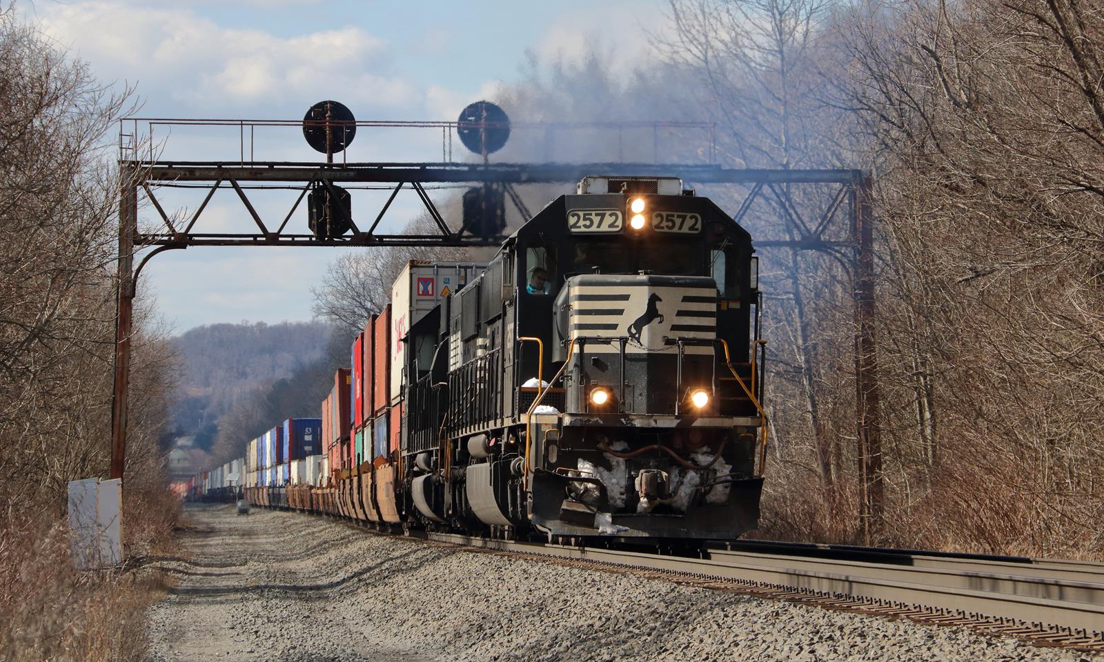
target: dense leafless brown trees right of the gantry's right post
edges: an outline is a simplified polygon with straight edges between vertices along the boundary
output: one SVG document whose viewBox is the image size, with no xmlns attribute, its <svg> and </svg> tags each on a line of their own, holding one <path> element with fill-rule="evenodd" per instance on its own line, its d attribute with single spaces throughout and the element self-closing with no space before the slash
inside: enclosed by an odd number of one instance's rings
<svg viewBox="0 0 1104 662">
<path fill-rule="evenodd" d="M 1059 0 L 866 3 L 839 19 L 841 100 L 884 163 L 883 365 L 915 405 L 890 412 L 894 482 L 913 488 L 896 508 L 953 523 L 940 544 L 1094 554 L 1104 21 Z M 898 526 L 933 535 L 916 513 Z"/>
</svg>

